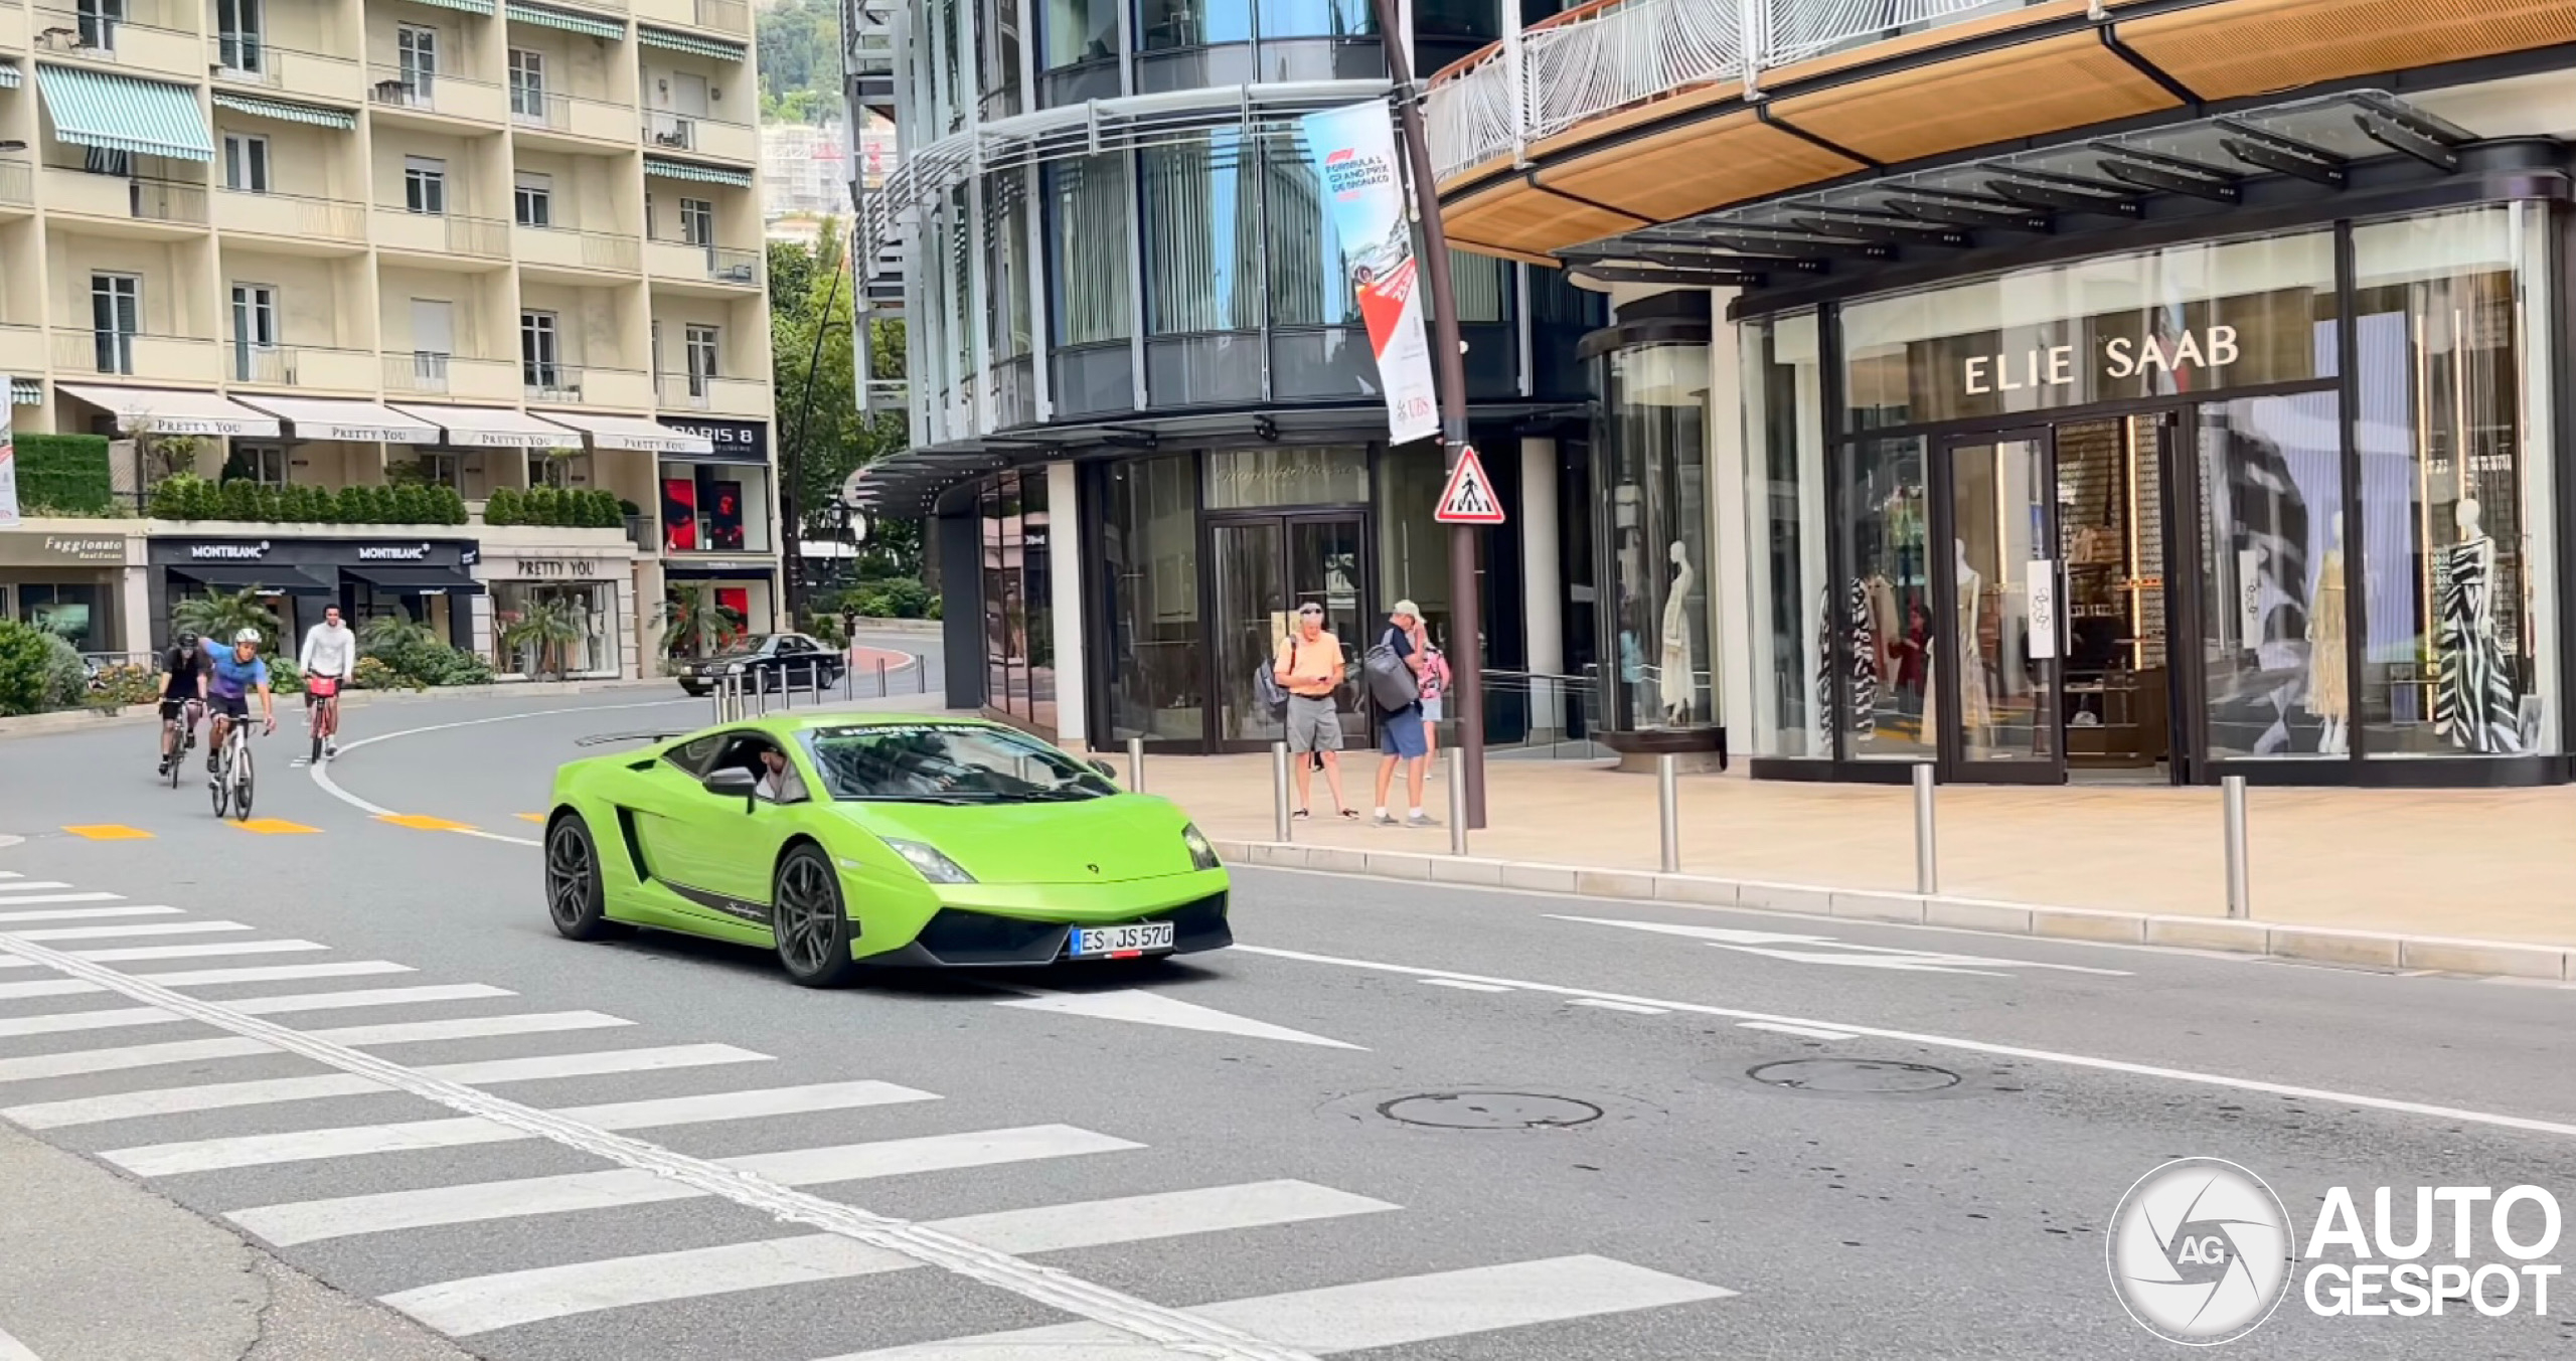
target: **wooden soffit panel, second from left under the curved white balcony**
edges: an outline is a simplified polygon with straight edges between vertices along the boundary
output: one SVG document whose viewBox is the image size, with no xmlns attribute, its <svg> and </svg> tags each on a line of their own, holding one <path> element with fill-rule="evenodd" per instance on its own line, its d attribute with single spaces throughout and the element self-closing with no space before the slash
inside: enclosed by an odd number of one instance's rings
<svg viewBox="0 0 2576 1361">
<path fill-rule="evenodd" d="M 1814 185 L 1868 170 L 1762 123 L 1754 113 L 1728 113 L 1540 170 L 1535 178 L 1646 221 L 1674 221 L 1728 203 Z"/>
</svg>

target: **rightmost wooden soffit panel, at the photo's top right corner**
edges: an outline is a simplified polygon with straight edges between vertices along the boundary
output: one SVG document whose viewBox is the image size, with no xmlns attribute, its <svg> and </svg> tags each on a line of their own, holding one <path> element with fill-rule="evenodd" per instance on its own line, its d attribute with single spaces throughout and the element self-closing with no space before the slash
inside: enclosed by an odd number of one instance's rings
<svg viewBox="0 0 2576 1361">
<path fill-rule="evenodd" d="M 2568 0 L 2226 0 L 2120 23 L 2202 98 L 2576 44 Z"/>
</svg>

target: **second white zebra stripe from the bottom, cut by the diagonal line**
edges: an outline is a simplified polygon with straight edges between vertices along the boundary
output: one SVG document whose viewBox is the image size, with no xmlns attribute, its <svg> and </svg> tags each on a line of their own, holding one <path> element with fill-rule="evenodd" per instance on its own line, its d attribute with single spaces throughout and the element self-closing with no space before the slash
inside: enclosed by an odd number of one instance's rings
<svg viewBox="0 0 2576 1361">
<path fill-rule="evenodd" d="M 1345 1214 L 1373 1214 L 1383 1209 L 1396 1207 L 1334 1191 L 1329 1186 L 1311 1186 L 1306 1181 L 1255 1181 L 1247 1186 L 1211 1186 L 1206 1191 L 1170 1191 L 1154 1196 L 1007 1209 L 999 1214 L 969 1214 L 961 1219 L 935 1219 L 925 1227 L 953 1232 L 999 1253 L 1025 1256 L 1265 1225 L 1296 1225 L 1306 1219 L 1337 1219 Z M 917 1261 L 899 1253 L 868 1248 L 866 1243 L 853 1243 L 832 1232 L 814 1232 L 804 1238 L 729 1243 L 724 1248 L 644 1253 L 634 1258 L 471 1276 L 464 1281 L 443 1281 L 435 1286 L 386 1294 L 384 1304 L 412 1315 L 451 1338 L 469 1338 L 495 1328 L 518 1328 L 523 1322 L 600 1310 L 667 1304 L 672 1299 L 706 1299 L 714 1294 L 775 1289 L 806 1281 L 845 1281 L 853 1276 L 878 1276 L 917 1266 Z"/>
</svg>

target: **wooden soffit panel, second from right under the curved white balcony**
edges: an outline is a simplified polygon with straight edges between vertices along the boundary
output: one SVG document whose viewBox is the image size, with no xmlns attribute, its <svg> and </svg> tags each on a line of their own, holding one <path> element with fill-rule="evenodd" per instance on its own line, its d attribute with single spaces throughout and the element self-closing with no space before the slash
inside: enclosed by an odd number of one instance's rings
<svg viewBox="0 0 2576 1361">
<path fill-rule="evenodd" d="M 1777 113 L 1865 157 L 1909 162 L 2179 105 L 2084 31 L 1783 98 Z"/>
</svg>

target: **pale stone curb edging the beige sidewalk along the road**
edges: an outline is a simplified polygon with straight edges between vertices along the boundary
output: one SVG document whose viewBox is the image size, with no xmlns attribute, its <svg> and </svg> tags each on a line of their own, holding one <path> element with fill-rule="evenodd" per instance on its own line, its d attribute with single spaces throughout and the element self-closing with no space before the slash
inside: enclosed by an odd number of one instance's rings
<svg viewBox="0 0 2576 1361">
<path fill-rule="evenodd" d="M 1994 903 L 1981 898 L 1924 898 L 1914 893 L 1862 893 L 1847 888 L 1721 880 L 1710 875 L 1662 875 L 1651 870 L 1600 870 L 1520 859 L 1301 846 L 1293 841 L 1216 841 L 1216 852 L 1234 864 L 1273 870 L 1321 870 L 1329 875 L 1528 888 L 1607 900 L 1847 916 L 1857 921 L 1953 926 L 2004 936 L 2164 944 L 2179 949 L 2267 955 L 2277 960 L 2383 970 L 2476 973 L 2496 978 L 2543 978 L 2555 983 L 2576 980 L 2576 947 L 2566 944 L 2416 936 L 2403 931 L 2349 931 L 2339 926 L 2236 921 L 2223 916 L 2056 908 L 2045 903 Z"/>
</svg>

